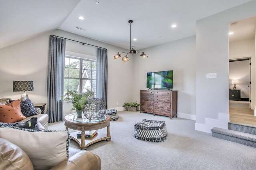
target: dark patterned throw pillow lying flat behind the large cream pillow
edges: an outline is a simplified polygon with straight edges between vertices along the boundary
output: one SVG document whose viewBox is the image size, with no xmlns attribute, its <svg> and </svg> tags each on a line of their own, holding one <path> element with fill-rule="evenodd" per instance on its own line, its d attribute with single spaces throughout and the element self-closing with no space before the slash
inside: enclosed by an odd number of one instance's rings
<svg viewBox="0 0 256 170">
<path fill-rule="evenodd" d="M 38 124 L 37 124 L 37 117 L 32 117 L 31 119 L 25 121 L 25 122 L 16 122 L 16 123 L 1 123 L 0 127 L 23 127 L 26 129 L 34 129 L 36 131 L 39 130 Z"/>
</svg>

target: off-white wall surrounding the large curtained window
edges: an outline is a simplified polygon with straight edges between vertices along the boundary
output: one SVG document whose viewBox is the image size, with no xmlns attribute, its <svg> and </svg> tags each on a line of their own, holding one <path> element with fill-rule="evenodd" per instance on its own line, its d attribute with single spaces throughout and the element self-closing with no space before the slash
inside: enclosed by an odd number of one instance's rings
<svg viewBox="0 0 256 170">
<path fill-rule="evenodd" d="M 12 92 L 12 81 L 32 80 L 34 91 L 27 92 L 34 103 L 46 102 L 49 36 L 58 35 L 108 49 L 108 108 L 132 99 L 132 60 L 124 63 L 114 55 L 125 49 L 56 29 L 37 37 L 0 49 L 0 98 L 20 98 L 22 92 Z M 67 51 L 96 55 L 96 48 L 67 41 Z M 125 88 L 125 90 L 124 90 Z M 64 104 L 64 114 L 70 113 Z"/>
</svg>

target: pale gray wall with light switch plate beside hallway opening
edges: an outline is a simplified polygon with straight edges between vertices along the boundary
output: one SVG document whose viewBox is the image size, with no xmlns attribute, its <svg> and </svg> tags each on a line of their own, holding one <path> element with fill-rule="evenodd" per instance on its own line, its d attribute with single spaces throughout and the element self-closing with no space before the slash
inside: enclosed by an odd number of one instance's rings
<svg viewBox="0 0 256 170">
<path fill-rule="evenodd" d="M 255 9 L 253 0 L 196 22 L 196 130 L 228 128 L 229 23 L 256 16 Z M 217 78 L 206 79 L 215 72 Z"/>
</svg>

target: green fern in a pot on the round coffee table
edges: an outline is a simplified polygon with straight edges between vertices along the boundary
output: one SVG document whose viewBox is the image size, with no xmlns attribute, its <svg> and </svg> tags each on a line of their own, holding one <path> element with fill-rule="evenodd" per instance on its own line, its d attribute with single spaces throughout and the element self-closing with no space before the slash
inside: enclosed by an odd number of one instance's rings
<svg viewBox="0 0 256 170">
<path fill-rule="evenodd" d="M 82 115 L 84 103 L 89 99 L 94 98 L 94 92 L 92 90 L 88 90 L 85 93 L 80 94 L 76 90 L 67 90 L 66 94 L 61 96 L 61 99 L 71 102 L 73 107 L 70 111 L 76 110 L 77 116 L 80 117 Z"/>
</svg>

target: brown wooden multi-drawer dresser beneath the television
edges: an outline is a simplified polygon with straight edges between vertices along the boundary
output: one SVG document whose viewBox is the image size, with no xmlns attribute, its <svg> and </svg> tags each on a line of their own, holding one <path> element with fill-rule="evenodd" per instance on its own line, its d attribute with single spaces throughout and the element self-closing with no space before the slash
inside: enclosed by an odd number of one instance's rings
<svg viewBox="0 0 256 170">
<path fill-rule="evenodd" d="M 177 91 L 140 90 L 140 113 L 177 117 Z"/>
</svg>

